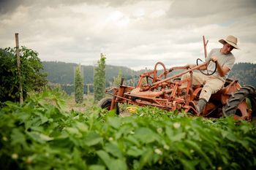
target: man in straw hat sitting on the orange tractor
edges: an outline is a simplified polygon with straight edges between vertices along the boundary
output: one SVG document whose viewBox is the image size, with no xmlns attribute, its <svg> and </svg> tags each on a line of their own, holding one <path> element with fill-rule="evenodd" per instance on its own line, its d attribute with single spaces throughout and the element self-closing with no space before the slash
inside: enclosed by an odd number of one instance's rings
<svg viewBox="0 0 256 170">
<path fill-rule="evenodd" d="M 201 74 L 200 72 L 193 72 L 192 76 L 192 85 L 203 85 L 201 90 L 198 104 L 195 105 L 192 103 L 193 107 L 197 110 L 197 112 L 202 113 L 203 109 L 206 107 L 206 103 L 209 101 L 211 94 L 217 93 L 217 91 L 221 90 L 227 75 L 232 69 L 236 58 L 231 53 L 233 48 L 239 49 L 237 45 L 237 38 L 235 36 L 227 36 L 226 39 L 220 39 L 220 43 L 222 43 L 222 48 L 216 48 L 211 50 L 208 53 L 206 58 L 206 62 L 214 61 L 217 65 L 217 72 L 212 74 L 211 76 L 206 76 Z M 200 70 L 207 69 L 208 71 L 214 72 L 215 63 L 209 62 L 208 66 L 201 67 Z M 187 64 L 187 69 L 196 66 L 195 64 Z M 181 76 L 181 80 L 187 79 L 190 77 L 190 74 L 184 74 Z M 187 82 L 181 85 L 181 88 L 186 88 Z"/>
</svg>

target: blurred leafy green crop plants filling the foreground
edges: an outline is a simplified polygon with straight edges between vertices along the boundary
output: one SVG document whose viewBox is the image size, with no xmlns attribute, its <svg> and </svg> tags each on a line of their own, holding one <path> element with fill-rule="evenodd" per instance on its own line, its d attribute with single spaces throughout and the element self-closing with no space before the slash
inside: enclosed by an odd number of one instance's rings
<svg viewBox="0 0 256 170">
<path fill-rule="evenodd" d="M 251 123 L 154 107 L 64 112 L 62 98 L 45 91 L 0 110 L 0 169 L 255 169 Z"/>
</svg>

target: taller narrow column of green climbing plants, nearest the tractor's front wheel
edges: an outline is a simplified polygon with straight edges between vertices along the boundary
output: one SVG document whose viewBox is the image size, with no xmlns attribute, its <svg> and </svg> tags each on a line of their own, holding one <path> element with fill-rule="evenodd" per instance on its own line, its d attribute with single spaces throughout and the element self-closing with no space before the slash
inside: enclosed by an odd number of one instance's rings
<svg viewBox="0 0 256 170">
<path fill-rule="evenodd" d="M 105 55 L 100 54 L 98 66 L 94 69 L 94 101 L 105 96 Z"/>
</svg>

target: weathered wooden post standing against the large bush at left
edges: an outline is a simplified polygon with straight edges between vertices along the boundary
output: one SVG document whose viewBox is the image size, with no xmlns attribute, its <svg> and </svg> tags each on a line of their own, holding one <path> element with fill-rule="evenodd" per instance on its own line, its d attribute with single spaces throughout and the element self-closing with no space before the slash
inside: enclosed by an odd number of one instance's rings
<svg viewBox="0 0 256 170">
<path fill-rule="evenodd" d="M 16 42 L 17 71 L 18 71 L 18 79 L 19 79 L 20 104 L 23 104 L 23 87 L 22 87 L 22 78 L 21 78 L 21 69 L 20 69 L 20 49 L 19 49 L 18 33 L 15 33 L 15 42 Z"/>
</svg>

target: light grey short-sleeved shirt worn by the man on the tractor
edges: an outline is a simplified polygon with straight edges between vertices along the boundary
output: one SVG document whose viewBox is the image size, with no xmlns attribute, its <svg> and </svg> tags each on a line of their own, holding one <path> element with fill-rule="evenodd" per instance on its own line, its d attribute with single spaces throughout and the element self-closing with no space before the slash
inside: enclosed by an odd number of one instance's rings
<svg viewBox="0 0 256 170">
<path fill-rule="evenodd" d="M 230 70 L 233 68 L 234 63 L 236 61 L 235 56 L 232 53 L 229 53 L 227 55 L 220 53 L 220 48 L 214 48 L 210 51 L 210 53 L 208 53 L 208 56 L 206 58 L 206 61 L 210 61 L 212 56 L 216 56 L 218 58 L 218 63 L 220 64 L 220 66 L 227 66 Z M 214 68 L 215 68 L 215 63 L 210 61 L 210 63 L 208 64 L 208 70 L 211 72 L 214 72 Z M 227 78 L 228 74 L 230 74 L 230 71 L 227 72 L 227 74 L 222 77 L 224 79 Z M 219 75 L 219 72 L 216 70 L 216 72 L 213 74 L 214 76 L 217 77 L 221 77 Z"/>
</svg>

